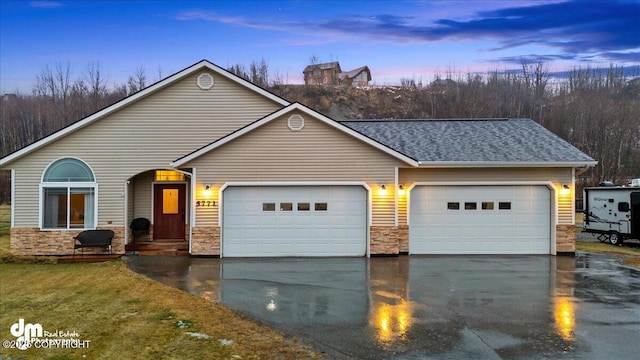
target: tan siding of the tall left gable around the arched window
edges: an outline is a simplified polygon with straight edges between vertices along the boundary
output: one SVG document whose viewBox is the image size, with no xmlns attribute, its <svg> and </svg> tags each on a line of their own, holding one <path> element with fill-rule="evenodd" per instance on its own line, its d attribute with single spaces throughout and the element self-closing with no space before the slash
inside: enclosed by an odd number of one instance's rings
<svg viewBox="0 0 640 360">
<path fill-rule="evenodd" d="M 72 156 L 94 170 L 98 226 L 122 225 L 124 186 L 279 109 L 281 105 L 213 74 L 201 90 L 196 72 L 11 164 L 16 169 L 16 227 L 38 226 L 38 189 L 52 161 Z"/>
</svg>

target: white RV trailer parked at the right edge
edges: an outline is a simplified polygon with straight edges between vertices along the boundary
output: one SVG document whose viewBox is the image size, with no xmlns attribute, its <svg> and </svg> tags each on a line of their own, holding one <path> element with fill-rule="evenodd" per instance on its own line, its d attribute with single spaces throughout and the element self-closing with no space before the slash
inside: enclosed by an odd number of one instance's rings
<svg viewBox="0 0 640 360">
<path fill-rule="evenodd" d="M 640 239 L 640 187 L 589 187 L 583 199 L 583 232 L 613 245 Z"/>
</svg>

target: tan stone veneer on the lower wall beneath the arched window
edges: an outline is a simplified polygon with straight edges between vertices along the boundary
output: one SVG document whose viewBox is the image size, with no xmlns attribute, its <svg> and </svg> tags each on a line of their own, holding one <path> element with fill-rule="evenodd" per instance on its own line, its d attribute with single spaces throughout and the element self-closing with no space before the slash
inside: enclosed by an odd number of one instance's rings
<svg viewBox="0 0 640 360">
<path fill-rule="evenodd" d="M 113 254 L 124 254 L 124 227 L 98 228 L 98 230 L 113 230 L 115 233 L 111 241 Z M 12 252 L 20 255 L 72 255 L 74 236 L 82 230 L 41 231 L 38 228 L 11 228 Z M 76 250 L 76 252 L 80 249 Z M 84 254 L 107 254 L 108 250 L 100 248 L 85 248 Z"/>
</svg>

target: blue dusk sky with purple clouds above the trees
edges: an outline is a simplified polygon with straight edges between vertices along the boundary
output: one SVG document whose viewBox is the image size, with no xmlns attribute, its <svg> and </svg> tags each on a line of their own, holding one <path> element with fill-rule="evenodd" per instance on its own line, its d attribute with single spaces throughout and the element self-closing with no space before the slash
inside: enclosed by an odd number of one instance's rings
<svg viewBox="0 0 640 360">
<path fill-rule="evenodd" d="M 30 93 L 45 65 L 72 78 L 99 62 L 109 84 L 149 80 L 207 59 L 265 59 L 302 83 L 315 56 L 367 65 L 373 84 L 434 74 L 640 64 L 639 0 L 14 1 L 0 0 L 0 93 Z"/>
</svg>

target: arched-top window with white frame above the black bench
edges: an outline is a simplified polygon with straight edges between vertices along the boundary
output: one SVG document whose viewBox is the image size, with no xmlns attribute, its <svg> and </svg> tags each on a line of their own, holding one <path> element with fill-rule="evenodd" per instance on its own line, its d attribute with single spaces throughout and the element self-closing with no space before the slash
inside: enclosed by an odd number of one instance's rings
<svg viewBox="0 0 640 360">
<path fill-rule="evenodd" d="M 49 165 L 40 184 L 40 228 L 94 229 L 97 187 L 82 160 L 64 158 Z"/>
</svg>

